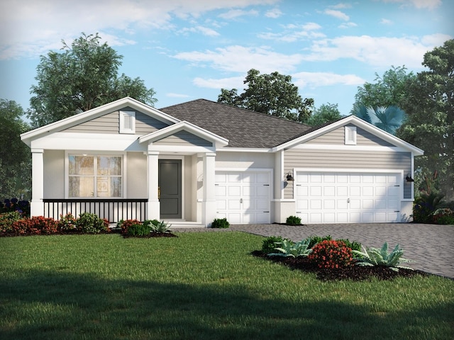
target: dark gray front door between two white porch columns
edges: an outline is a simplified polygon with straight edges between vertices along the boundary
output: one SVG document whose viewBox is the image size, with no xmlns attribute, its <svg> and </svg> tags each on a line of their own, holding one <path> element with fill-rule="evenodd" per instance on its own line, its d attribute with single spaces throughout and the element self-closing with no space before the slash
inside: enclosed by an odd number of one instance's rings
<svg viewBox="0 0 454 340">
<path fill-rule="evenodd" d="M 159 159 L 158 166 L 161 220 L 182 218 L 182 161 Z"/>
</svg>

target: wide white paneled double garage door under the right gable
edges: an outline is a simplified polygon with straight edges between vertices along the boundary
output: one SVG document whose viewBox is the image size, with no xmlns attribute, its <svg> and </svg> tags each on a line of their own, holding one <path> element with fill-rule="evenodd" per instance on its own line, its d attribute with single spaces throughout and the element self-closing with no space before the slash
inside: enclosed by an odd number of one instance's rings
<svg viewBox="0 0 454 340">
<path fill-rule="evenodd" d="M 400 222 L 400 174 L 297 172 L 302 223 Z"/>
</svg>

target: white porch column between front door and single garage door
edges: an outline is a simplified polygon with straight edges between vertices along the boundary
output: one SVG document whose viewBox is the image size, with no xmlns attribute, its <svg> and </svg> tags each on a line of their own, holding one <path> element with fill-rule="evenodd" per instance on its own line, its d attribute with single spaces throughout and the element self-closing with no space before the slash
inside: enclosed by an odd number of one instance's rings
<svg viewBox="0 0 454 340">
<path fill-rule="evenodd" d="M 215 159 L 214 152 L 204 154 L 204 198 L 201 206 L 201 222 L 205 227 L 211 226 L 211 222 L 216 218 Z"/>
</svg>

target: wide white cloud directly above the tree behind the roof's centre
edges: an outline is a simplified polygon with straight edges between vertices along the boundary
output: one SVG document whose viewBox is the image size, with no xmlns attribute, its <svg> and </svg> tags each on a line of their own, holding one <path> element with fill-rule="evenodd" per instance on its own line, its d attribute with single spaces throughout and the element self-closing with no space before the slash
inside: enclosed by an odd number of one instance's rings
<svg viewBox="0 0 454 340">
<path fill-rule="evenodd" d="M 233 45 L 203 52 L 181 52 L 174 55 L 178 60 L 192 62 L 198 66 L 209 65 L 228 72 L 247 72 L 260 69 L 260 72 L 289 72 L 302 60 L 302 55 L 284 55 L 273 52 L 268 47 L 243 47 Z"/>
</svg>

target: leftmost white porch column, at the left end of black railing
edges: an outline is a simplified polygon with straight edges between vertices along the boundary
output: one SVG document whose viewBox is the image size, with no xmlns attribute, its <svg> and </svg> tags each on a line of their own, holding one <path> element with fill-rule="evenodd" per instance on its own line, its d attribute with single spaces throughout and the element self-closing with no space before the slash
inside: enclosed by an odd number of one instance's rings
<svg viewBox="0 0 454 340">
<path fill-rule="evenodd" d="M 43 149 L 31 149 L 31 202 L 30 215 L 44 215 L 44 161 Z"/>
</svg>

